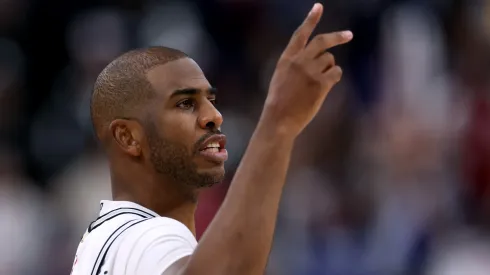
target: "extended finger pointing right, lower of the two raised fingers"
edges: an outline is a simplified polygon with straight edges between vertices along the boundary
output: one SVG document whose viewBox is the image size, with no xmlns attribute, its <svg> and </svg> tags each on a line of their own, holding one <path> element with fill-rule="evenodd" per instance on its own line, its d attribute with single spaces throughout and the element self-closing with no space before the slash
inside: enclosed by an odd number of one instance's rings
<svg viewBox="0 0 490 275">
<path fill-rule="evenodd" d="M 351 31 L 332 32 L 315 36 L 306 47 L 305 55 L 308 58 L 317 58 L 326 50 L 352 40 Z"/>
</svg>

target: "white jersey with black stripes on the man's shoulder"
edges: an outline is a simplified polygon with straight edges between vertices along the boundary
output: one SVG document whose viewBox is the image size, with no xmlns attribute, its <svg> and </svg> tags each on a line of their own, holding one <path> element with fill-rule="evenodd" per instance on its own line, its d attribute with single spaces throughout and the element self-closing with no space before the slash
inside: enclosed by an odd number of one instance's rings
<svg viewBox="0 0 490 275">
<path fill-rule="evenodd" d="M 72 275 L 161 275 L 196 246 L 179 221 L 136 203 L 102 201 L 99 217 L 80 241 Z"/>
</svg>

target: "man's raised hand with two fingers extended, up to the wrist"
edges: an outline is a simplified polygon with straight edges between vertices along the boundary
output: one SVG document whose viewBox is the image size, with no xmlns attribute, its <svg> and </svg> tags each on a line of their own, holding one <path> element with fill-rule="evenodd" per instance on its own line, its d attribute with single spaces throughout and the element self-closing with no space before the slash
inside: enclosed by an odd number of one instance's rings
<svg viewBox="0 0 490 275">
<path fill-rule="evenodd" d="M 282 53 L 272 77 L 262 115 L 268 127 L 296 137 L 310 123 L 342 70 L 327 49 L 352 39 L 350 31 L 320 34 L 308 44 L 323 6 L 315 4 Z"/>
</svg>

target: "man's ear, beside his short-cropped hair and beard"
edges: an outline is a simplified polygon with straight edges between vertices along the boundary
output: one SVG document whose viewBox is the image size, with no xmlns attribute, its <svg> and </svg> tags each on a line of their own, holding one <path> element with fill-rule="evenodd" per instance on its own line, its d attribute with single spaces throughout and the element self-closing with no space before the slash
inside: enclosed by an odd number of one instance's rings
<svg viewBox="0 0 490 275">
<path fill-rule="evenodd" d="M 141 156 L 143 128 L 137 121 L 116 119 L 111 122 L 109 129 L 112 138 L 123 152 L 133 157 Z"/>
</svg>

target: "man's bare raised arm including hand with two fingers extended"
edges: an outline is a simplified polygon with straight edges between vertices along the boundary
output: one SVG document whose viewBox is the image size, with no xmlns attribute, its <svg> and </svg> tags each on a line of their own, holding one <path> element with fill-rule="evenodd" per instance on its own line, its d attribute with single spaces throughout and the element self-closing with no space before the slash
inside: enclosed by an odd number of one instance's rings
<svg viewBox="0 0 490 275">
<path fill-rule="evenodd" d="M 296 137 L 313 119 L 342 71 L 325 51 L 350 32 L 316 36 L 323 7 L 316 4 L 277 63 L 262 116 L 230 190 L 191 257 L 164 275 L 263 274 Z"/>
</svg>

